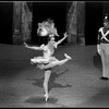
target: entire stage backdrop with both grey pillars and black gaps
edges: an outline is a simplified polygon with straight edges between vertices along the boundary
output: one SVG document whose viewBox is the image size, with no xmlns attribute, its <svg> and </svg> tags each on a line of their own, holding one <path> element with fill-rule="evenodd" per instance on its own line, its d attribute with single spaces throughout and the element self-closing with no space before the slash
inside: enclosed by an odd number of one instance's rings
<svg viewBox="0 0 109 109">
<path fill-rule="evenodd" d="M 82 45 L 96 45 L 104 15 L 109 14 L 108 5 L 109 2 L 106 1 L 0 2 L 0 43 L 40 44 L 45 39 L 38 39 L 37 24 L 51 17 L 60 38 L 68 31 L 68 44 L 80 44 L 83 38 Z"/>
</svg>

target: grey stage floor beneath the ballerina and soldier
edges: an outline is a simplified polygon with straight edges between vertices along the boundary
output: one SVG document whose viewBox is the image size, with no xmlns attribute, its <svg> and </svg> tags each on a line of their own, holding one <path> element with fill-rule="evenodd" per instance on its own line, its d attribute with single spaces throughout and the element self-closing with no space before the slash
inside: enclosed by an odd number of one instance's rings
<svg viewBox="0 0 109 109">
<path fill-rule="evenodd" d="M 72 60 L 52 69 L 46 102 L 44 71 L 29 63 L 41 51 L 0 44 L 0 107 L 109 107 L 109 81 L 100 80 L 96 46 L 59 46 L 55 56 L 61 60 L 64 52 Z"/>
</svg>

